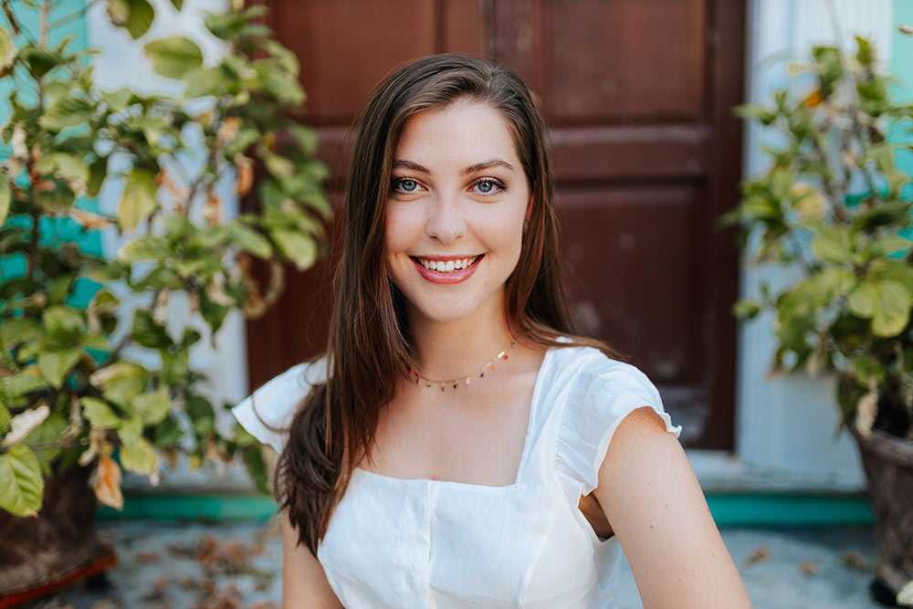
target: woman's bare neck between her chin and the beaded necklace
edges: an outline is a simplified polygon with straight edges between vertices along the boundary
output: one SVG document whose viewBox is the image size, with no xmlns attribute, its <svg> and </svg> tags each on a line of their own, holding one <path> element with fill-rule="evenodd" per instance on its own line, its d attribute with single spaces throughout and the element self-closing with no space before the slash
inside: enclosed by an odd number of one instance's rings
<svg viewBox="0 0 913 609">
<path fill-rule="evenodd" d="M 429 379 L 447 380 L 483 372 L 487 362 L 516 340 L 504 316 L 503 298 L 460 320 L 410 316 L 415 364 Z"/>
</svg>

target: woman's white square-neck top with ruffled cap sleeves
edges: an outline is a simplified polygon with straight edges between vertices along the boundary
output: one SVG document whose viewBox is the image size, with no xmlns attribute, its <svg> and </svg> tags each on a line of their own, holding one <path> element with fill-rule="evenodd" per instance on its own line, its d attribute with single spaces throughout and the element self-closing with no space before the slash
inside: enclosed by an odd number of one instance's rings
<svg viewBox="0 0 913 609">
<path fill-rule="evenodd" d="M 256 392 L 257 413 L 285 425 L 323 362 L 299 364 Z M 310 377 L 310 378 L 309 378 Z M 590 347 L 550 349 L 530 405 L 517 478 L 506 487 L 391 478 L 358 468 L 318 547 L 347 609 L 614 607 L 621 547 L 600 539 L 578 503 L 624 416 L 652 406 L 681 433 L 635 366 Z M 284 437 L 254 415 L 237 420 L 281 450 Z"/>
</svg>

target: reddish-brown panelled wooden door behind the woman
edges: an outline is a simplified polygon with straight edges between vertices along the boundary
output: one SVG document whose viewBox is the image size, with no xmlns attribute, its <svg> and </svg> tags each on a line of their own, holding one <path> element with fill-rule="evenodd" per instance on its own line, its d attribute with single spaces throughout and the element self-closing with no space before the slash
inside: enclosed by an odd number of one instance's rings
<svg viewBox="0 0 913 609">
<path fill-rule="evenodd" d="M 732 448 L 738 257 L 714 219 L 740 176 L 744 5 L 737 0 L 269 0 L 300 58 L 307 121 L 334 170 L 367 92 L 411 58 L 516 68 L 550 126 L 561 250 L 582 332 L 659 387 L 687 446 Z M 333 261 L 248 322 L 256 386 L 325 345 Z"/>
</svg>

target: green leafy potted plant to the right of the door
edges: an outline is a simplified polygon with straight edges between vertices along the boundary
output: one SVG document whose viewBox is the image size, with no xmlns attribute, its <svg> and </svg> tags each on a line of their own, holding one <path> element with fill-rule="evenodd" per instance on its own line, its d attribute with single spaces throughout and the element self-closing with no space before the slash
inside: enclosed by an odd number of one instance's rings
<svg viewBox="0 0 913 609">
<path fill-rule="evenodd" d="M 888 95 L 875 49 L 856 37 L 855 54 L 813 47 L 795 65 L 811 86 L 740 116 L 776 131 L 770 168 L 746 181 L 740 205 L 721 218 L 740 228 L 740 246 L 759 262 L 801 268 L 803 278 L 735 312 L 774 316 L 772 371 L 837 373 L 841 425 L 862 436 L 879 429 L 913 439 L 913 241 L 909 161 L 913 107 Z"/>
</svg>

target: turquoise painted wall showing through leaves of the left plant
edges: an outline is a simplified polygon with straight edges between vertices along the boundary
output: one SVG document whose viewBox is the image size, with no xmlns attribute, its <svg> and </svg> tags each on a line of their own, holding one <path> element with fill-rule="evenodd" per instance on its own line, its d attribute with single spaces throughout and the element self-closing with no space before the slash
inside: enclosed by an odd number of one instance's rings
<svg viewBox="0 0 913 609">
<path fill-rule="evenodd" d="M 16 20 L 22 26 L 23 36 L 37 39 L 39 31 L 37 10 L 31 9 L 22 3 L 14 3 L 13 7 Z M 84 7 L 84 0 L 60 0 L 51 11 L 50 22 L 53 23 L 67 16 L 78 14 Z M 0 15 L 0 24 L 9 28 L 9 22 L 5 16 Z M 67 36 L 73 37 L 68 47 L 70 50 L 81 50 L 88 46 L 89 36 L 84 15 L 54 28 L 50 33 L 49 40 L 51 44 L 57 44 Z M 16 38 L 17 44 L 21 44 L 22 41 L 22 37 Z M 18 90 L 20 100 L 35 100 L 34 81 L 27 76 L 17 74 L 15 79 L 9 77 L 0 79 L 0 116 L 3 117 L 4 121 L 9 115 L 8 97 L 14 87 Z M 0 152 L 3 156 L 6 153 L 8 151 Z M 98 211 L 97 203 L 91 199 L 80 198 L 76 206 L 92 212 Z M 9 218 L 7 222 L 16 223 L 19 226 L 31 226 L 31 220 L 26 217 Z M 42 218 L 39 229 L 42 245 L 51 246 L 61 242 L 76 242 L 82 251 L 101 256 L 100 233 L 98 231 L 83 232 L 80 230 L 80 226 L 68 217 Z M 25 273 L 26 257 L 24 255 L 0 257 L 0 278 L 22 277 Z M 98 288 L 99 284 L 89 281 L 89 279 L 79 279 L 72 296 L 68 299 L 68 303 L 76 307 L 85 307 Z"/>
</svg>

